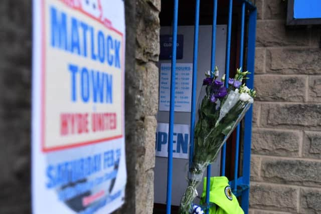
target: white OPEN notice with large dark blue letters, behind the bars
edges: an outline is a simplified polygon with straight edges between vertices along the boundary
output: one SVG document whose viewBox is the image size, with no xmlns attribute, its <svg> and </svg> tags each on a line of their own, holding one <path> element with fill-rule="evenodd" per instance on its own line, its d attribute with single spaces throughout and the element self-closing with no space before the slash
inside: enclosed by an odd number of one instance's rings
<svg viewBox="0 0 321 214">
<path fill-rule="evenodd" d="M 174 124 L 173 157 L 189 159 L 190 126 Z M 168 157 L 169 124 L 157 123 L 155 152 L 158 157 Z"/>
</svg>

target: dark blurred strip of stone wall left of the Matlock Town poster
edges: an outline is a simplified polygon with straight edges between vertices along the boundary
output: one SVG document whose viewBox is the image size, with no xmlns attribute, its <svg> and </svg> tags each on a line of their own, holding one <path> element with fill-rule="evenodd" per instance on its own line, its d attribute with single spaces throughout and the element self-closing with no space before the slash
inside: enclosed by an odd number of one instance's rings
<svg viewBox="0 0 321 214">
<path fill-rule="evenodd" d="M 0 212 L 31 213 L 31 2 L 0 6 Z"/>
</svg>

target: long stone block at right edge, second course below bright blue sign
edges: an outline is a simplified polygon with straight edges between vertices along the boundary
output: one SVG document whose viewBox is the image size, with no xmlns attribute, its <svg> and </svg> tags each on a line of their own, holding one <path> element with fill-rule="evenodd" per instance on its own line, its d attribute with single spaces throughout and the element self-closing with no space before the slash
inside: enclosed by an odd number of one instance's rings
<svg viewBox="0 0 321 214">
<path fill-rule="evenodd" d="M 319 49 L 268 49 L 266 73 L 321 74 Z"/>
</svg>

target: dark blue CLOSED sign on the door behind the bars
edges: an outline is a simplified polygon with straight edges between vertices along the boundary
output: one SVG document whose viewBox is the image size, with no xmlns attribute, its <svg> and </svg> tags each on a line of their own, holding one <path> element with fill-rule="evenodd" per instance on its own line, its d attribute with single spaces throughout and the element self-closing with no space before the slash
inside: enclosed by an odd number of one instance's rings
<svg viewBox="0 0 321 214">
<path fill-rule="evenodd" d="M 161 35 L 159 37 L 161 42 L 161 53 L 159 54 L 159 60 L 171 60 L 172 59 L 172 35 Z M 176 59 L 183 59 L 183 46 L 184 46 L 184 35 L 177 35 L 177 53 Z"/>
</svg>

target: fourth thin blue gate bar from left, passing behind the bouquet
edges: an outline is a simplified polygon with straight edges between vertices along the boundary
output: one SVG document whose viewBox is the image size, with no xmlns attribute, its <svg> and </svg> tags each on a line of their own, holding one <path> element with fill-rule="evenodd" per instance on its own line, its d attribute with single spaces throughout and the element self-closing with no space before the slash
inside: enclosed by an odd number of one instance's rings
<svg viewBox="0 0 321 214">
<path fill-rule="evenodd" d="M 230 76 L 230 52 L 231 52 L 231 31 L 232 31 L 232 7 L 233 0 L 230 0 L 229 5 L 229 20 L 227 24 L 227 42 L 226 42 L 226 58 L 225 58 L 225 87 L 228 87 Z M 225 176 L 225 161 L 226 161 L 226 144 L 222 148 L 222 176 Z"/>
</svg>

